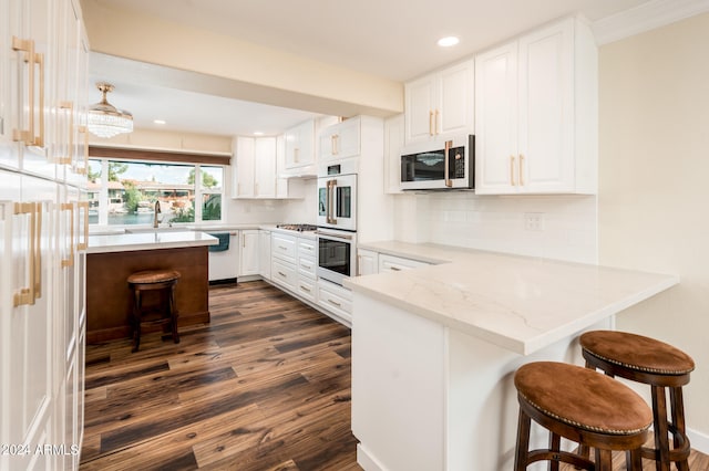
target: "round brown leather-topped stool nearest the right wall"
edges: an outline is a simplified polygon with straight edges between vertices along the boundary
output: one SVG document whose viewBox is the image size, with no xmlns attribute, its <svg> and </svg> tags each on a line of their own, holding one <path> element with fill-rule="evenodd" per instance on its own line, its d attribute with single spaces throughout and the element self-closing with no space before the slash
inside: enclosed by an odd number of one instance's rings
<svg viewBox="0 0 709 471">
<path fill-rule="evenodd" d="M 643 458 L 655 460 L 658 471 L 669 470 L 671 462 L 678 470 L 688 471 L 690 444 L 685 429 L 682 386 L 689 383 L 689 374 L 695 369 L 691 357 L 664 342 L 626 332 L 592 331 L 583 334 L 579 342 L 588 368 L 650 386 L 655 448 L 644 448 Z"/>
</svg>

